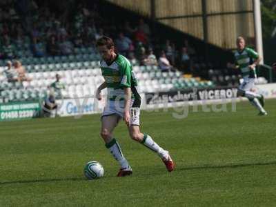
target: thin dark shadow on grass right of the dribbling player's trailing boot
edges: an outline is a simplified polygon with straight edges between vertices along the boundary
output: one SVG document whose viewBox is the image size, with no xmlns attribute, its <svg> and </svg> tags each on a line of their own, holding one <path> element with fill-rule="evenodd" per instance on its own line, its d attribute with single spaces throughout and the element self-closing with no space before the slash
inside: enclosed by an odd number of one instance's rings
<svg viewBox="0 0 276 207">
<path fill-rule="evenodd" d="M 212 169 L 212 168 L 242 168 L 247 166 L 271 166 L 275 165 L 276 161 L 257 162 L 257 163 L 244 163 L 244 164 L 226 164 L 226 165 L 212 165 L 206 164 L 203 166 L 190 166 L 184 168 L 178 168 L 177 170 L 197 170 L 197 169 Z"/>
</svg>

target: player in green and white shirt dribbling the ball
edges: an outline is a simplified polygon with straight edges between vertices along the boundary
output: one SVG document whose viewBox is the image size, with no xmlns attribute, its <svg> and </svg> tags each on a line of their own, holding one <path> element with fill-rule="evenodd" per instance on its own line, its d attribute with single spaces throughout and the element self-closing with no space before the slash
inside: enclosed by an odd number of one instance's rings
<svg viewBox="0 0 276 207">
<path fill-rule="evenodd" d="M 117 176 L 124 177 L 132 174 L 132 169 L 112 133 L 121 118 L 126 122 L 132 139 L 156 152 L 164 161 L 168 171 L 174 170 L 175 165 L 169 152 L 156 144 L 150 135 L 140 132 L 141 97 L 137 92 L 137 79 L 130 62 L 126 57 L 115 52 L 114 43 L 109 37 L 103 36 L 98 39 L 97 48 L 103 59 L 101 72 L 105 79 L 97 88 L 97 99 L 101 100 L 101 90 L 107 88 L 106 106 L 101 115 L 101 137 L 106 143 L 106 148 L 121 165 Z"/>
</svg>

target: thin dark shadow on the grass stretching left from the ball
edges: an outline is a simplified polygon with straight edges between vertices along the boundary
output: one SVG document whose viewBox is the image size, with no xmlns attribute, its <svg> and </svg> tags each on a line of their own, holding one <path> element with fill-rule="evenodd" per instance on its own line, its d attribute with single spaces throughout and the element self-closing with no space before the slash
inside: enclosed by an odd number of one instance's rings
<svg viewBox="0 0 276 207">
<path fill-rule="evenodd" d="M 17 180 L 17 181 L 0 181 L 1 185 L 8 184 L 34 184 L 39 182 L 52 182 L 52 181 L 81 181 L 86 180 L 84 177 L 68 177 L 68 178 L 49 178 L 49 179 L 34 179 L 34 180 Z"/>
</svg>

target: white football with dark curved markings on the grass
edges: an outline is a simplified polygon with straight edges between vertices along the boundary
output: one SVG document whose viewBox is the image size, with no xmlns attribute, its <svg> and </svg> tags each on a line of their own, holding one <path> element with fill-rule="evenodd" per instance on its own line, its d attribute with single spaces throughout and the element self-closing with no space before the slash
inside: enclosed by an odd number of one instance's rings
<svg viewBox="0 0 276 207">
<path fill-rule="evenodd" d="M 87 179 L 103 177 L 103 166 L 98 161 L 89 161 L 84 167 L 84 176 Z"/>
</svg>

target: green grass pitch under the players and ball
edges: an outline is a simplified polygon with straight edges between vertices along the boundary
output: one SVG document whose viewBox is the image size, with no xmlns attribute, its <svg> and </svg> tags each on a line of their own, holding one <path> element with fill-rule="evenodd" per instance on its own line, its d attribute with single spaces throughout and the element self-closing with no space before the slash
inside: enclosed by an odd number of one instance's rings
<svg viewBox="0 0 276 207">
<path fill-rule="evenodd" d="M 268 116 L 248 101 L 237 112 L 142 112 L 141 130 L 170 150 L 177 167 L 167 172 L 153 152 L 115 130 L 133 175 L 99 137 L 100 115 L 0 123 L 0 206 L 275 206 L 276 100 Z M 83 177 L 99 161 L 101 179 Z"/>
</svg>

